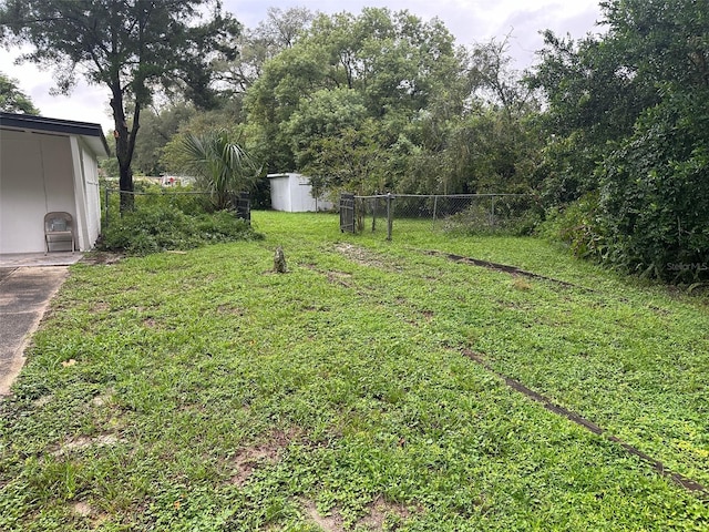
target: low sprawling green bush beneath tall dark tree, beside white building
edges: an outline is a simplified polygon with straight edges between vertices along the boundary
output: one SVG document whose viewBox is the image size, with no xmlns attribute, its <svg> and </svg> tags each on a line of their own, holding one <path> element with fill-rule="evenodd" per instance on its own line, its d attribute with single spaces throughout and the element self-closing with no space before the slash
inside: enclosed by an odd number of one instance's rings
<svg viewBox="0 0 709 532">
<path fill-rule="evenodd" d="M 233 212 L 185 214 L 168 205 L 124 214 L 104 231 L 99 248 L 147 255 L 206 244 L 263 238 Z"/>
</svg>

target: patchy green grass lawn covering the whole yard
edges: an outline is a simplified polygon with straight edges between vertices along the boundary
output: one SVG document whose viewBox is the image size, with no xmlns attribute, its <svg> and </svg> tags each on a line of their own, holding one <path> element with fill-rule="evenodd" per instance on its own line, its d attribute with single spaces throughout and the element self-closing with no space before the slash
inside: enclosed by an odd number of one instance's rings
<svg viewBox="0 0 709 532">
<path fill-rule="evenodd" d="M 532 238 L 254 223 L 72 268 L 0 403 L 0 530 L 709 530 L 706 499 L 499 376 L 709 485 L 706 300 Z"/>
</svg>

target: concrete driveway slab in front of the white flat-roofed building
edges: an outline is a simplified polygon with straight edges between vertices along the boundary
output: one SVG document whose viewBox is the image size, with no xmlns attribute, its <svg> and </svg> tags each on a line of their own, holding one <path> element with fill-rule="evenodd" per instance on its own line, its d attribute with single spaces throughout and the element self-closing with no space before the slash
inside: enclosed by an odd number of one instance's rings
<svg viewBox="0 0 709 532">
<path fill-rule="evenodd" d="M 74 254 L 70 262 L 76 262 L 81 256 Z M 69 275 L 68 266 L 47 266 L 51 262 L 43 254 L 37 258 L 34 262 L 30 257 L 19 263 L 0 262 L 0 396 L 10 392 L 10 386 L 24 365 L 24 349 L 50 300 Z"/>
</svg>

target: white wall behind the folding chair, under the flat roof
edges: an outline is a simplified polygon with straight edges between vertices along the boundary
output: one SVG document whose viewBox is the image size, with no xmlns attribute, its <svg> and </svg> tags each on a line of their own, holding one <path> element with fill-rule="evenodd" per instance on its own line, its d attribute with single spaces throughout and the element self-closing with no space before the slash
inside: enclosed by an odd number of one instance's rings
<svg viewBox="0 0 709 532">
<path fill-rule="evenodd" d="M 44 250 L 44 215 L 75 216 L 68 136 L 0 131 L 0 253 Z"/>
</svg>

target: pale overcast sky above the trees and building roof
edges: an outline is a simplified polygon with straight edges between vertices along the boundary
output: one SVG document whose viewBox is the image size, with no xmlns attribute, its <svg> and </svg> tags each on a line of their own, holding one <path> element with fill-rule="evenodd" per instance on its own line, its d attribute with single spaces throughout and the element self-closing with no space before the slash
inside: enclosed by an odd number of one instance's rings
<svg viewBox="0 0 709 532">
<path fill-rule="evenodd" d="M 511 34 L 510 53 L 518 69 L 534 62 L 534 52 L 542 47 L 541 30 L 569 33 L 577 39 L 597 32 L 595 23 L 600 18 L 598 0 L 225 0 L 224 7 L 247 28 L 258 25 L 268 7 L 306 7 L 327 13 L 359 13 L 363 7 L 407 9 L 424 21 L 441 19 L 459 44 L 502 40 Z M 19 81 L 20 89 L 43 116 L 101 123 L 104 130 L 113 127 L 107 89 L 81 83 L 70 96 L 52 96 L 51 72 L 40 72 L 31 64 L 12 64 L 16 52 L 2 50 L 0 54 L 0 72 Z"/>
</svg>

